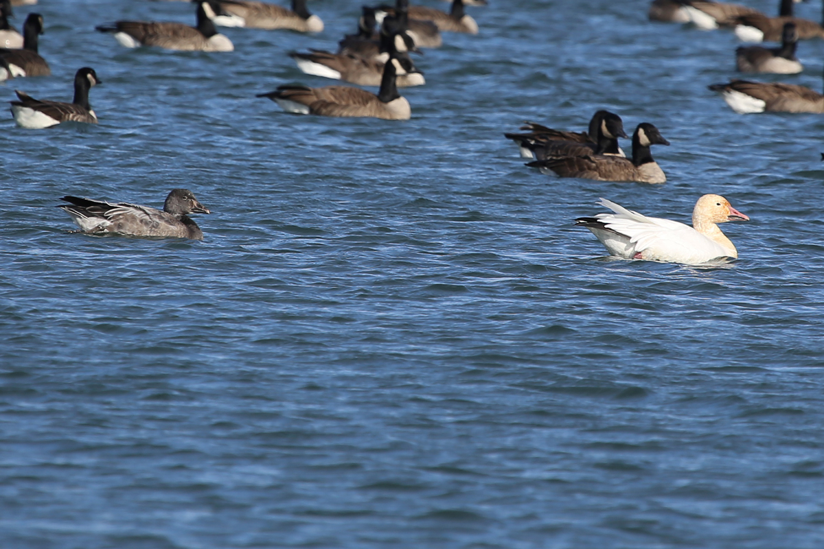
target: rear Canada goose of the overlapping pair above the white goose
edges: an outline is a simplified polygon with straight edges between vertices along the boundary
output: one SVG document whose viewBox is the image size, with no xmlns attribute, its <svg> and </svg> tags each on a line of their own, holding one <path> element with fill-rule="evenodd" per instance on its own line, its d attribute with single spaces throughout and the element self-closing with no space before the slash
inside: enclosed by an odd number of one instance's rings
<svg viewBox="0 0 824 549">
<path fill-rule="evenodd" d="M 534 122 L 525 122 L 521 129 L 529 133 L 504 133 L 503 137 L 512 139 L 518 144 L 522 158 L 536 158 L 536 150 L 545 147 L 549 142 L 574 142 L 588 148 L 592 147 L 591 152 L 600 147 L 601 151 L 597 154 L 624 156 L 624 151 L 618 147 L 617 138 L 608 137 L 609 135 L 627 137 L 624 133 L 624 123 L 620 116 L 608 110 L 599 110 L 592 115 L 587 132 L 564 132 Z M 606 139 L 601 141 L 599 135 L 603 135 Z M 538 158 L 538 160 L 544 159 Z"/>
</svg>

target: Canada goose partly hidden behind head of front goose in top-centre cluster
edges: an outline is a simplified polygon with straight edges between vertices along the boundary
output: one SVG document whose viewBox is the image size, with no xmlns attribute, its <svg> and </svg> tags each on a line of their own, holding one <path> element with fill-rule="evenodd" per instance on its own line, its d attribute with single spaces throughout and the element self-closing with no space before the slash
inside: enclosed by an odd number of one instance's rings
<svg viewBox="0 0 824 549">
<path fill-rule="evenodd" d="M 412 63 L 409 51 L 418 51 L 414 42 L 405 31 L 398 31 L 397 21 L 387 17 L 381 30 L 380 49 L 386 55 L 394 54 L 404 67 L 404 74 L 397 75 L 399 87 L 423 86 L 424 74 Z M 380 86 L 385 62 L 375 58 L 362 58 L 354 54 L 330 54 L 312 49 L 308 54 L 291 52 L 289 57 L 295 60 L 297 67 L 307 74 L 318 77 L 334 78 L 358 84 L 358 86 Z"/>
</svg>

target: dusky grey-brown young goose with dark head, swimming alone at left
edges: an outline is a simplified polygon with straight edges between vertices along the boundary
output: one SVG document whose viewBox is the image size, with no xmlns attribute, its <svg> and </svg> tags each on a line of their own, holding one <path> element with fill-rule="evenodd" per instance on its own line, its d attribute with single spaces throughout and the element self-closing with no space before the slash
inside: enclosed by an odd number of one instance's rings
<svg viewBox="0 0 824 549">
<path fill-rule="evenodd" d="M 190 213 L 211 213 L 185 188 L 172 189 L 163 204 L 163 210 L 138 206 L 128 202 L 103 202 L 66 196 L 70 204 L 58 207 L 72 216 L 82 233 L 90 235 L 117 233 L 129 236 L 171 236 L 204 240 L 200 227 L 190 219 Z"/>
</svg>

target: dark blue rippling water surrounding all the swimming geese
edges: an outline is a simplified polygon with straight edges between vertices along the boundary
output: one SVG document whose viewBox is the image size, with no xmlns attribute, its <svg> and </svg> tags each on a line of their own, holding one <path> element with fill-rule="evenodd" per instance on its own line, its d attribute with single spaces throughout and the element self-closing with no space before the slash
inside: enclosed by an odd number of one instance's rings
<svg viewBox="0 0 824 549">
<path fill-rule="evenodd" d="M 824 119 L 707 91 L 732 34 L 492 0 L 393 123 L 255 98 L 329 84 L 286 53 L 334 49 L 361 2 L 310 2 L 321 35 L 224 30 L 231 54 L 92 30 L 185 2 L 41 2 L 54 77 L 5 100 L 104 84 L 99 126 L 0 122 L 0 547 L 824 547 Z M 822 55 L 763 79 L 820 89 Z M 550 179 L 502 136 L 600 108 L 661 129 L 667 184 Z M 175 187 L 212 208 L 204 242 L 54 207 Z M 572 227 L 599 197 L 688 222 L 708 192 L 752 220 L 723 268 Z"/>
</svg>

